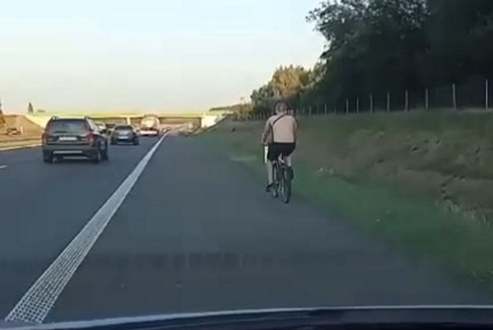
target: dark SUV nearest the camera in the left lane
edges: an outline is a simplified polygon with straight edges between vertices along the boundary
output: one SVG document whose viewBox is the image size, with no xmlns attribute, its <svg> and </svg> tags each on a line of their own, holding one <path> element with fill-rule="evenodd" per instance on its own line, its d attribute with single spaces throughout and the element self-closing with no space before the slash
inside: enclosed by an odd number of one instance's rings
<svg viewBox="0 0 493 330">
<path fill-rule="evenodd" d="M 90 118 L 50 119 L 42 135 L 43 161 L 64 156 L 84 156 L 95 163 L 108 160 L 106 136 Z"/>
</svg>

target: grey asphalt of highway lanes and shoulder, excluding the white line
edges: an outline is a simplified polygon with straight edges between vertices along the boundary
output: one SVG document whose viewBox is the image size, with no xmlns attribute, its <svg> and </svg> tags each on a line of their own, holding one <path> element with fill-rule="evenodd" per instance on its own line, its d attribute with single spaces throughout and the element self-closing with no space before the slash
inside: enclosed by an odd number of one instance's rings
<svg viewBox="0 0 493 330">
<path fill-rule="evenodd" d="M 3 317 L 156 141 L 112 146 L 99 165 L 44 164 L 39 148 L 0 152 Z M 273 201 L 263 188 L 226 153 L 165 138 L 43 321 L 491 302 L 439 264 L 410 259 L 304 201 Z"/>
</svg>

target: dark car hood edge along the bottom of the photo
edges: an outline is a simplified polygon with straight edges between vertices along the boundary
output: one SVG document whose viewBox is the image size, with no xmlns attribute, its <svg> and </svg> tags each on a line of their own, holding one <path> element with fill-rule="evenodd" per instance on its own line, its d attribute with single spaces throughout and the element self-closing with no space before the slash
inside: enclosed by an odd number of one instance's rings
<svg viewBox="0 0 493 330">
<path fill-rule="evenodd" d="M 493 305 L 363 306 L 247 309 L 122 317 L 91 321 L 0 323 L 0 329 L 283 329 L 307 326 L 493 325 Z"/>
</svg>

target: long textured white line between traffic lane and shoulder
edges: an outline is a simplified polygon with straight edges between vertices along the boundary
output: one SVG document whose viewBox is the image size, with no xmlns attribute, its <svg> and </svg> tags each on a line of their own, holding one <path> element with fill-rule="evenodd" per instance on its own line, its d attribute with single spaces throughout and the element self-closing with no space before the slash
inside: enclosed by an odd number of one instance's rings
<svg viewBox="0 0 493 330">
<path fill-rule="evenodd" d="M 43 322 L 165 137 L 166 134 L 147 152 L 113 195 L 106 200 L 106 203 L 17 302 L 14 309 L 8 313 L 5 321 Z"/>
</svg>

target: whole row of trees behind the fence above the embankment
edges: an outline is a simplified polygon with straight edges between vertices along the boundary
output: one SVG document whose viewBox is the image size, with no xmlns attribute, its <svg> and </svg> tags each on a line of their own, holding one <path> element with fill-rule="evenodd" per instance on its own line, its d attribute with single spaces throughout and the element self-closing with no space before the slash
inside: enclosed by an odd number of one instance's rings
<svg viewBox="0 0 493 330">
<path fill-rule="evenodd" d="M 319 62 L 277 68 L 251 93 L 250 110 L 268 112 L 280 98 L 342 106 L 492 77 L 493 0 L 327 0 L 306 19 L 325 38 Z"/>
</svg>

